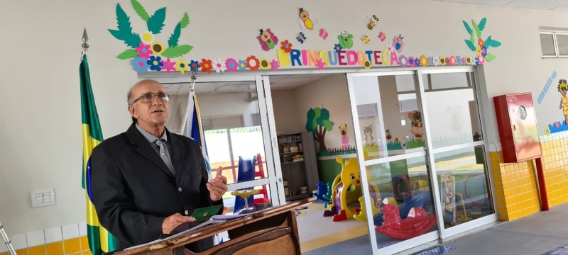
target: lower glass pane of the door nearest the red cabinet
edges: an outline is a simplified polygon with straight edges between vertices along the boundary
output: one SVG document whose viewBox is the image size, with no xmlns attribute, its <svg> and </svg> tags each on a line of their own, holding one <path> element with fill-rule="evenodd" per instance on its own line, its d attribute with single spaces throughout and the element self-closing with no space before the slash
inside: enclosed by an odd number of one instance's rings
<svg viewBox="0 0 568 255">
<path fill-rule="evenodd" d="M 495 212 L 483 146 L 437 153 L 434 161 L 446 228 Z"/>
</svg>

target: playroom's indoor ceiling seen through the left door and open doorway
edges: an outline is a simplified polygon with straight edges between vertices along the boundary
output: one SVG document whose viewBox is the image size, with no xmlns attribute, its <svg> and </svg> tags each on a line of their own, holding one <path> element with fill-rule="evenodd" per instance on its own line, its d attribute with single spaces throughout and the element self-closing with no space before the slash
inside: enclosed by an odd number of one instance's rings
<svg viewBox="0 0 568 255">
<path fill-rule="evenodd" d="M 274 75 L 270 76 L 271 89 L 295 89 L 328 76 L 329 74 Z M 189 83 L 177 83 L 164 84 L 164 86 L 168 94 L 179 95 L 188 94 L 191 85 Z M 195 93 L 198 95 L 236 92 L 255 93 L 256 84 L 254 81 L 198 82 L 195 84 Z"/>
</svg>

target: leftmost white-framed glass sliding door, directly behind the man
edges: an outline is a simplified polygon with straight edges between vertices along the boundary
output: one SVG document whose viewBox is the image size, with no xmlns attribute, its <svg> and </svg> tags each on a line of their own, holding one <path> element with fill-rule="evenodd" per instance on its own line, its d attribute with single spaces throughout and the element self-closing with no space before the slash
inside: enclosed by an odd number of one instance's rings
<svg viewBox="0 0 568 255">
<path fill-rule="evenodd" d="M 280 204 L 271 187 L 276 177 L 263 86 L 254 77 L 244 78 L 195 84 L 212 175 L 221 168 L 229 184 L 224 196 L 229 213 L 244 207 L 242 198 L 231 196 L 235 190 L 258 189 L 260 193 L 248 200 L 251 206 Z M 190 82 L 163 84 L 171 98 L 166 127 L 187 135 L 187 112 L 193 105 Z"/>
</svg>

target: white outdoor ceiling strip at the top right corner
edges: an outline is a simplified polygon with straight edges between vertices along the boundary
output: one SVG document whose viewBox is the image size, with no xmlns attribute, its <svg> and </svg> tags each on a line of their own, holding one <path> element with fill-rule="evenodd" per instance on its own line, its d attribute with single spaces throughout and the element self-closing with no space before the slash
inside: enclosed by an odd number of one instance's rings
<svg viewBox="0 0 568 255">
<path fill-rule="evenodd" d="M 568 11 L 568 0 L 433 0 L 466 4 L 510 6 L 541 10 Z"/>
</svg>

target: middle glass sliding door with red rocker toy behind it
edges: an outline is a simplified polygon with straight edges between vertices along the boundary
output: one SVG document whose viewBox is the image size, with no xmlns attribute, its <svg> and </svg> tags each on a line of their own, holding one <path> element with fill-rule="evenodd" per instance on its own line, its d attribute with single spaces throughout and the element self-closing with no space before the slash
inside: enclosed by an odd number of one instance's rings
<svg viewBox="0 0 568 255">
<path fill-rule="evenodd" d="M 439 217 L 415 72 L 347 79 L 373 253 L 434 241 Z"/>
</svg>

